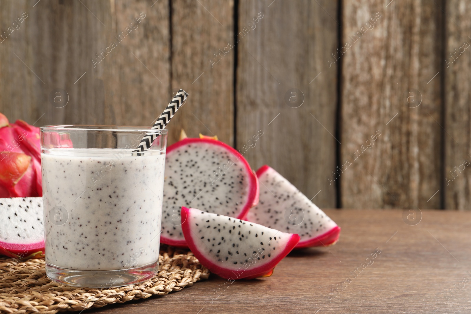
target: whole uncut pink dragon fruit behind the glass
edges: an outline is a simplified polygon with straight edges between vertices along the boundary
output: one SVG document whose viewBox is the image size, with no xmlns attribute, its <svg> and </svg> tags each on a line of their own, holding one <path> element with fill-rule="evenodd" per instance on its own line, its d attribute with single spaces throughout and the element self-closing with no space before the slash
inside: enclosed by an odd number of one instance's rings
<svg viewBox="0 0 471 314">
<path fill-rule="evenodd" d="M 39 132 L 0 113 L 0 197 L 42 195 Z"/>
</svg>

